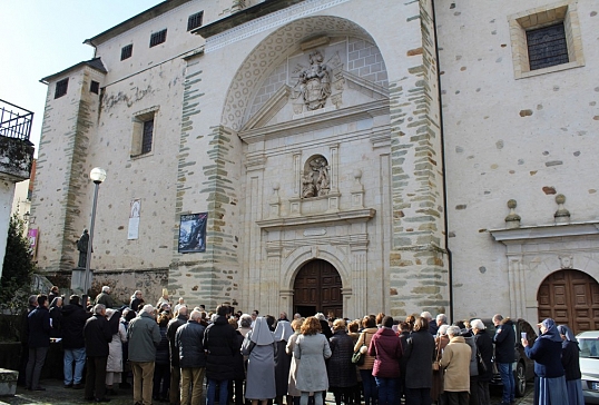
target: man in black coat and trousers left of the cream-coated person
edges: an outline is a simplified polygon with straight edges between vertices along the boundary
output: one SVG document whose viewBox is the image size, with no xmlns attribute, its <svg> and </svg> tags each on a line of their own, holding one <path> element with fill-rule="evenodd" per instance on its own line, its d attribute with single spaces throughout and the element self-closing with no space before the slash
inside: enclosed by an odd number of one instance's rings
<svg viewBox="0 0 599 405">
<path fill-rule="evenodd" d="M 84 336 L 87 354 L 86 399 L 108 402 L 110 399 L 106 398 L 106 363 L 112 332 L 106 319 L 104 304 L 94 306 L 94 315 L 86 322 Z"/>
</svg>

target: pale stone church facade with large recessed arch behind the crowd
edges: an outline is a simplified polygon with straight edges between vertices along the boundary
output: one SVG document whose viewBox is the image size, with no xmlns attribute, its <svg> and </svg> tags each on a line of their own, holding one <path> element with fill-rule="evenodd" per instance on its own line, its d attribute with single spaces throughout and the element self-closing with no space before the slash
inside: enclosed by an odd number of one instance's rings
<svg viewBox="0 0 599 405">
<path fill-rule="evenodd" d="M 165 1 L 43 79 L 39 267 L 69 278 L 102 167 L 124 300 L 597 328 L 595 6 Z"/>
</svg>

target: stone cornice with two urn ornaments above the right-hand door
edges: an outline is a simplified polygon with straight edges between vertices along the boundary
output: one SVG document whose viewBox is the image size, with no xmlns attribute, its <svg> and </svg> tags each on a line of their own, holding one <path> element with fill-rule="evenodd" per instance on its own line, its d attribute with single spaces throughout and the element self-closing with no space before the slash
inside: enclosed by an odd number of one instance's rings
<svg viewBox="0 0 599 405">
<path fill-rule="evenodd" d="M 599 221 L 534 225 L 512 229 L 490 229 L 489 234 L 491 234 L 497 241 L 501 241 L 504 245 L 548 238 L 599 237 Z"/>
</svg>

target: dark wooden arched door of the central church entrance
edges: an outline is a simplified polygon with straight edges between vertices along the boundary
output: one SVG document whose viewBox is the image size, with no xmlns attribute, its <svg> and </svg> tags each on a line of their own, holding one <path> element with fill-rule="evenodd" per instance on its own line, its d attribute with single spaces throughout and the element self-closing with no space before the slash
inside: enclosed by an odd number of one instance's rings
<svg viewBox="0 0 599 405">
<path fill-rule="evenodd" d="M 293 285 L 293 310 L 302 316 L 316 313 L 343 317 L 341 276 L 328 261 L 315 259 L 306 263 Z"/>
</svg>

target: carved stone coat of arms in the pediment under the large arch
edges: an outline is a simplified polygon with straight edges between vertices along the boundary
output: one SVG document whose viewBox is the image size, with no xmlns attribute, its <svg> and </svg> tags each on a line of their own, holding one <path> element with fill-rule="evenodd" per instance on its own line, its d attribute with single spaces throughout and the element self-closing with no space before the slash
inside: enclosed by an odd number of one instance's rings
<svg viewBox="0 0 599 405">
<path fill-rule="evenodd" d="M 302 97 L 308 111 L 323 108 L 326 99 L 331 96 L 332 70 L 324 62 L 321 51 L 310 53 L 310 67 L 301 68 L 297 83 L 297 95 Z M 297 72 L 297 71 L 296 71 Z"/>
</svg>

